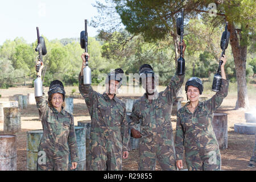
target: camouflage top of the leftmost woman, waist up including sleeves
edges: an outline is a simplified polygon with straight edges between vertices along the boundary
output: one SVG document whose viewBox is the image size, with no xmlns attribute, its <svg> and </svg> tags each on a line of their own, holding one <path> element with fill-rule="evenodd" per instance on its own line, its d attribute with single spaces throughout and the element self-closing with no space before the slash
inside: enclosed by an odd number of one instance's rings
<svg viewBox="0 0 256 182">
<path fill-rule="evenodd" d="M 73 115 L 62 109 L 60 113 L 48 106 L 46 95 L 35 97 L 43 125 L 39 150 L 51 150 L 56 155 L 71 154 L 71 162 L 79 162 Z"/>
</svg>

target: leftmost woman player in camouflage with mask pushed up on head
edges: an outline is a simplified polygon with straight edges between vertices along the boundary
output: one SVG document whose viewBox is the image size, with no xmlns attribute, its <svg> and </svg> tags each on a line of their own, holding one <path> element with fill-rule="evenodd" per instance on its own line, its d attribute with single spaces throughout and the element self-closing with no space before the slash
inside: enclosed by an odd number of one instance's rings
<svg viewBox="0 0 256 182">
<path fill-rule="evenodd" d="M 42 74 L 43 62 L 39 75 Z M 51 82 L 46 95 L 35 97 L 39 117 L 43 125 L 43 137 L 39 146 L 37 170 L 38 171 L 67 171 L 69 151 L 72 167 L 79 162 L 76 133 L 73 115 L 64 110 L 65 90 L 61 81 Z M 44 158 L 45 157 L 45 158 Z"/>
</svg>

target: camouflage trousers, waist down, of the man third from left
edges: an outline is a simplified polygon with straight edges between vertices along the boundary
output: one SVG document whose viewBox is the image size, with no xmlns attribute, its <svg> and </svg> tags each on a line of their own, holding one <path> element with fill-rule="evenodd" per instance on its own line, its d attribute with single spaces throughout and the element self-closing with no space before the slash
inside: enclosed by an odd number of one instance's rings
<svg viewBox="0 0 256 182">
<path fill-rule="evenodd" d="M 165 140 L 160 139 L 161 142 L 156 138 L 155 141 L 153 137 L 141 139 L 141 143 L 139 144 L 139 171 L 155 171 L 156 160 L 158 160 L 162 170 L 176 170 L 173 138 Z"/>
</svg>

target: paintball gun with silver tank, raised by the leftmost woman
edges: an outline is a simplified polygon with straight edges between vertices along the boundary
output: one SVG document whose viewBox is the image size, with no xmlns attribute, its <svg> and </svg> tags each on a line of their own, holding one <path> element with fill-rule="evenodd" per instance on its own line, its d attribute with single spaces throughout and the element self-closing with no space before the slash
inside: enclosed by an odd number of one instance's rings
<svg viewBox="0 0 256 182">
<path fill-rule="evenodd" d="M 39 28 L 36 27 L 36 31 L 38 33 L 38 46 L 36 46 L 35 51 L 38 52 L 38 56 L 36 56 L 36 60 L 39 60 L 40 63 L 43 61 L 43 56 L 46 55 L 46 43 L 44 42 L 44 38 L 39 36 Z M 43 82 L 42 78 L 39 75 L 39 69 L 41 64 L 36 64 L 36 79 L 34 81 L 35 88 L 35 97 L 43 96 Z"/>
</svg>

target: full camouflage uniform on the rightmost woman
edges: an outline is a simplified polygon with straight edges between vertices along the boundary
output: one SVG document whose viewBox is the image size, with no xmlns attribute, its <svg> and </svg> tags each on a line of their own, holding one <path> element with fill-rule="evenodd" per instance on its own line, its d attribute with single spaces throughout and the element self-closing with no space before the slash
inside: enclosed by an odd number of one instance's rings
<svg viewBox="0 0 256 182">
<path fill-rule="evenodd" d="M 175 137 L 176 160 L 183 159 L 183 146 L 188 170 L 220 170 L 221 155 L 212 127 L 212 114 L 228 95 L 229 81 L 222 79 L 220 91 L 207 101 L 199 102 L 194 113 L 188 102 L 177 112 Z"/>
</svg>

